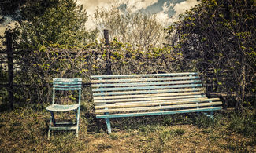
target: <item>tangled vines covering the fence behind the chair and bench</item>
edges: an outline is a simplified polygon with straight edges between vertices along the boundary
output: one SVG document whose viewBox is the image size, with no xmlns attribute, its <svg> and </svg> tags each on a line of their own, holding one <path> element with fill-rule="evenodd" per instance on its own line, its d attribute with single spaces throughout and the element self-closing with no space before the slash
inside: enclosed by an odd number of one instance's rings
<svg viewBox="0 0 256 153">
<path fill-rule="evenodd" d="M 20 78 L 16 78 L 16 82 L 24 85 L 22 96 L 25 101 L 33 103 L 49 102 L 47 97 L 50 96 L 53 78 L 83 78 L 83 82 L 89 82 L 90 75 L 106 75 L 107 71 L 116 75 L 181 71 L 179 63 L 182 60 L 169 47 L 150 48 L 143 52 L 117 41 L 111 42 L 110 48 L 98 43 L 83 48 L 58 44 L 41 46 L 23 59 L 25 62 L 20 67 Z"/>
</svg>

